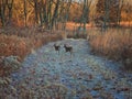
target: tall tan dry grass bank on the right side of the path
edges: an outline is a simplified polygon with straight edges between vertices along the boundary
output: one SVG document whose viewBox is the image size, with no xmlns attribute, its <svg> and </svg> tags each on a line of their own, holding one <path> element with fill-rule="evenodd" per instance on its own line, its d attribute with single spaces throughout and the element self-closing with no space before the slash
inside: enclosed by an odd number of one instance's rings
<svg viewBox="0 0 132 99">
<path fill-rule="evenodd" d="M 106 33 L 92 30 L 88 35 L 94 53 L 121 61 L 128 68 L 132 68 L 132 30 L 111 29 Z"/>
</svg>

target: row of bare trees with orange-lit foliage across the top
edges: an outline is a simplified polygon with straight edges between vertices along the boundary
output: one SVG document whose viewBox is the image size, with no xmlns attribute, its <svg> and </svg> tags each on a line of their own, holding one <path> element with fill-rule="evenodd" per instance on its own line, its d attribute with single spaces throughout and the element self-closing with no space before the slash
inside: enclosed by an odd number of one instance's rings
<svg viewBox="0 0 132 99">
<path fill-rule="evenodd" d="M 109 26 L 132 21 L 132 1 L 127 0 L 0 0 L 0 24 L 40 25 L 64 30 L 67 21 Z"/>
</svg>

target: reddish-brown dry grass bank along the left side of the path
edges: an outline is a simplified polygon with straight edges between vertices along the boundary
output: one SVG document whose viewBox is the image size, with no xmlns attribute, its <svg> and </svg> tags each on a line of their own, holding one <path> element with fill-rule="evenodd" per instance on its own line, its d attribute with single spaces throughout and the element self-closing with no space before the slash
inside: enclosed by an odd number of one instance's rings
<svg viewBox="0 0 132 99">
<path fill-rule="evenodd" d="M 22 62 L 32 51 L 48 42 L 62 40 L 63 36 L 61 33 L 50 32 L 43 32 L 40 29 L 13 28 L 0 31 L 0 76 L 6 76 L 4 73 L 10 70 L 9 68 L 4 68 L 3 57 L 18 56 L 19 62 Z"/>
</svg>

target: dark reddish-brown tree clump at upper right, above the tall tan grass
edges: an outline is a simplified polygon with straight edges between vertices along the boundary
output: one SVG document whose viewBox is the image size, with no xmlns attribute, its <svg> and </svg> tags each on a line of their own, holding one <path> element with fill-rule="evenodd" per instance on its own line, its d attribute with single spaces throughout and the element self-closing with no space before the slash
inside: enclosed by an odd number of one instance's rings
<svg viewBox="0 0 132 99">
<path fill-rule="evenodd" d="M 98 0 L 96 20 L 100 22 L 102 30 L 120 24 L 122 3 L 123 0 Z"/>
</svg>

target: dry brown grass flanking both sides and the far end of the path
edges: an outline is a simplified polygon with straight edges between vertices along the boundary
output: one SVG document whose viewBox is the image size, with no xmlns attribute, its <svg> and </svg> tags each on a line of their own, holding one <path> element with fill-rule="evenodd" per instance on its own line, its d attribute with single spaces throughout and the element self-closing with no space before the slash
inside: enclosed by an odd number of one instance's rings
<svg viewBox="0 0 132 99">
<path fill-rule="evenodd" d="M 87 24 L 87 33 L 77 32 L 79 24 L 67 23 L 66 31 L 50 31 L 41 28 L 0 29 L 0 62 L 2 57 L 18 56 L 19 61 L 42 45 L 66 37 L 88 38 L 91 53 L 113 61 L 120 61 L 127 68 L 132 68 L 132 30 L 109 29 L 105 33 L 99 28 Z M 2 65 L 2 64 L 0 64 Z M 0 68 L 2 69 L 2 68 Z"/>
</svg>

